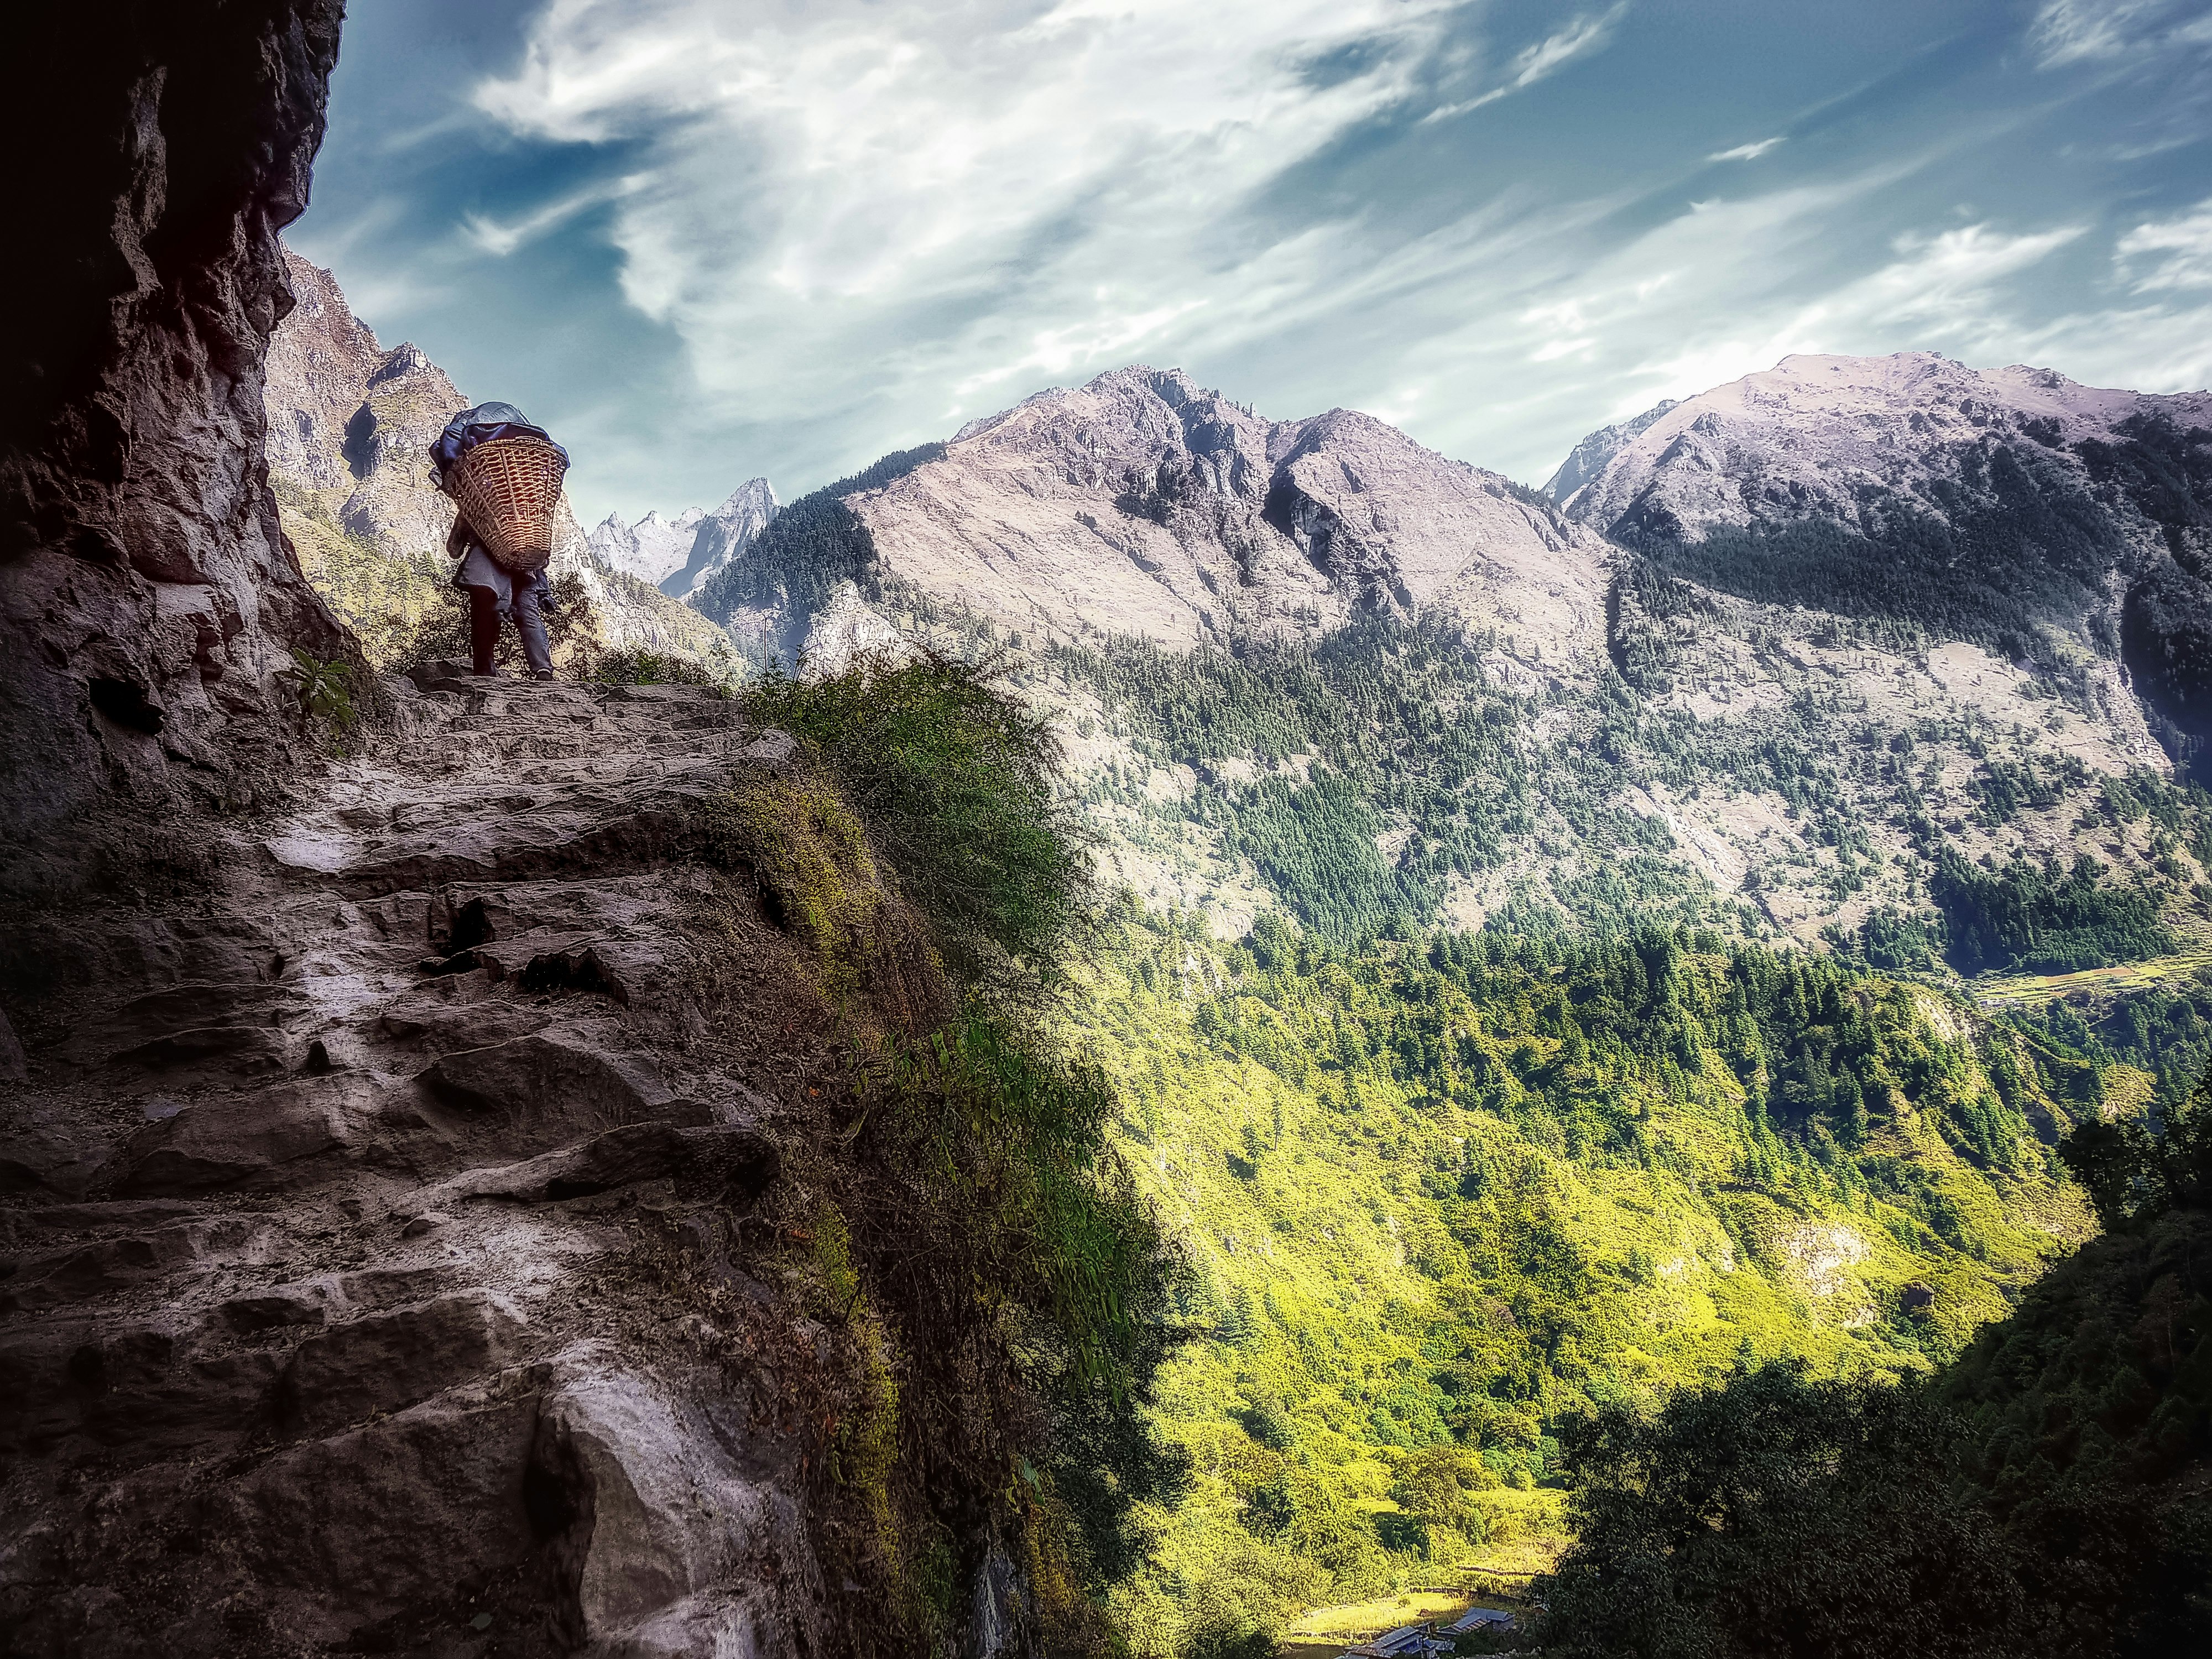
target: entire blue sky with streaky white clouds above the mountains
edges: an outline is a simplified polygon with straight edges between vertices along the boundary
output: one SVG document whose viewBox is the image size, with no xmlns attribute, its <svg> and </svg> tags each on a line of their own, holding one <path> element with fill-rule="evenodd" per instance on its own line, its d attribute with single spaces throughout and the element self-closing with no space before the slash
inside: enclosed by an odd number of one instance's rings
<svg viewBox="0 0 2212 1659">
<path fill-rule="evenodd" d="M 290 237 L 591 518 L 1124 363 L 1542 482 L 1790 352 L 2212 383 L 2212 0 L 356 0 Z"/>
</svg>

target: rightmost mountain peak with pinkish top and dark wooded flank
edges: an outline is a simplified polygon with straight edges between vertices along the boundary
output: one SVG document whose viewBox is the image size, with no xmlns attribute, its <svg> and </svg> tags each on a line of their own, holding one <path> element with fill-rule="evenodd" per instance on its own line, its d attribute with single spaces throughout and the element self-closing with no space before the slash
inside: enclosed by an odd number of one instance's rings
<svg viewBox="0 0 2212 1659">
<path fill-rule="evenodd" d="M 2174 761 L 2212 741 L 2212 394 L 1792 356 L 1630 427 L 1577 449 L 1575 522 L 1739 597 L 2117 657 Z"/>
</svg>

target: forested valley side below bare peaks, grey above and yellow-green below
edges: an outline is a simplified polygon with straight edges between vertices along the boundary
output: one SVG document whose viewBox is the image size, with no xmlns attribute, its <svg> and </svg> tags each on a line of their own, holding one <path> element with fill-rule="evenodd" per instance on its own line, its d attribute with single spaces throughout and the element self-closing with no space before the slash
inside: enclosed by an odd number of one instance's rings
<svg viewBox="0 0 2212 1659">
<path fill-rule="evenodd" d="M 2095 1234 L 2059 1144 L 2159 1121 L 2212 1048 L 2212 799 L 2119 672 L 2126 538 L 1993 465 L 2011 520 L 1617 549 L 1588 655 L 1506 606 L 1031 628 L 902 577 L 863 480 L 790 573 L 754 549 L 757 617 L 847 580 L 995 653 L 1141 900 L 1068 1004 L 1192 1267 L 1137 1652 L 1542 1566 L 1588 1413 L 1767 1365 L 1905 1398 Z M 1177 476 L 1148 522 L 1203 538 Z M 1900 549 L 1955 580 L 1867 599 Z"/>
</svg>

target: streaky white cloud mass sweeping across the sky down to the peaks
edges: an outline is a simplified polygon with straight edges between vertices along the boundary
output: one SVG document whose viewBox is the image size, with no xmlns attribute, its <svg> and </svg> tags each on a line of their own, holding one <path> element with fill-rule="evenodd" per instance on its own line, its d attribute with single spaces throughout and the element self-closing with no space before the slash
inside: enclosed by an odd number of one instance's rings
<svg viewBox="0 0 2212 1659">
<path fill-rule="evenodd" d="M 1657 223 L 1666 188 L 1632 168 L 1579 199 L 1513 175 L 1418 234 L 1292 179 L 1451 88 L 1475 97 L 1433 113 L 1513 97 L 1624 15 L 1486 53 L 1464 0 L 553 0 L 476 104 L 526 139 L 619 144 L 628 177 L 469 234 L 520 274 L 531 237 L 606 204 L 624 294 L 681 343 L 699 425 L 821 460 L 785 489 L 1130 361 L 1270 414 L 1367 407 L 1522 478 L 1604 418 L 1790 352 L 2205 376 L 2212 330 L 2172 296 L 2203 285 L 2212 204 L 2121 239 L 2124 307 L 2053 321 L 2090 212 L 1933 217 L 1927 186 L 1989 119 L 1747 199 L 1719 179 L 1776 175 L 1705 166 L 1783 135 L 1688 150 L 1674 188 L 1701 199 Z M 2101 40 L 2051 22 L 2039 49 L 2090 62 Z"/>
</svg>

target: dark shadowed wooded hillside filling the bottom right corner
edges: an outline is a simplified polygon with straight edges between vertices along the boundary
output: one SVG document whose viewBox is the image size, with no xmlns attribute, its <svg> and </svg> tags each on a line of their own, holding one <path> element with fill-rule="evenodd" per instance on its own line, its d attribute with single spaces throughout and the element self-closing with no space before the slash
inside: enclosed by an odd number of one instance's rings
<svg viewBox="0 0 2212 1659">
<path fill-rule="evenodd" d="M 2179 1655 L 2212 1641 L 2212 1082 L 2064 1155 L 2106 1237 L 1936 1376 L 1739 1367 L 1568 1433 L 1548 1650 Z"/>
</svg>

